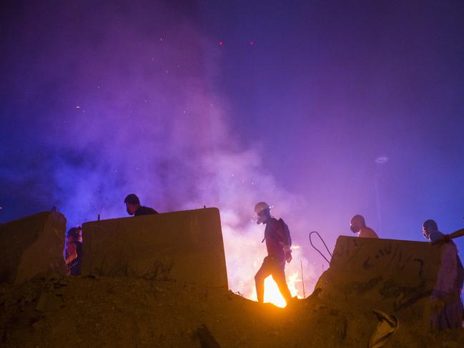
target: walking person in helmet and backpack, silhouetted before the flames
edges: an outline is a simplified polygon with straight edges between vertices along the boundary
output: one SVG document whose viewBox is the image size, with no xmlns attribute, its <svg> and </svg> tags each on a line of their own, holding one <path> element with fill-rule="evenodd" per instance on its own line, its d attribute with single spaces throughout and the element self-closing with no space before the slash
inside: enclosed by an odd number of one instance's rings
<svg viewBox="0 0 464 348">
<path fill-rule="evenodd" d="M 277 287 L 279 287 L 280 294 L 289 304 L 292 300 L 292 294 L 290 294 L 285 280 L 285 261 L 292 260 L 291 241 L 289 240 L 290 236 L 285 232 L 283 221 L 272 217 L 270 209 L 270 206 L 265 202 L 255 205 L 257 224 L 266 225 L 265 238 L 262 242 L 266 242 L 267 248 L 267 257 L 262 261 L 262 265 L 255 275 L 256 294 L 258 302 L 264 302 L 265 279 L 272 275 Z"/>
</svg>

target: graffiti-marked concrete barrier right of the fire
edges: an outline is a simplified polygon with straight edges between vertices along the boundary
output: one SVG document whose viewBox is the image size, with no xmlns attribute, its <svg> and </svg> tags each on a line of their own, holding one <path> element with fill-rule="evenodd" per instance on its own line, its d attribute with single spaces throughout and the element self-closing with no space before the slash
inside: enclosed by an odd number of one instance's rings
<svg viewBox="0 0 464 348">
<path fill-rule="evenodd" d="M 452 244 L 340 236 L 314 294 L 331 302 L 368 304 L 433 327 L 433 318 L 447 306 L 434 294 L 450 292 L 455 284 L 455 259 Z"/>
</svg>

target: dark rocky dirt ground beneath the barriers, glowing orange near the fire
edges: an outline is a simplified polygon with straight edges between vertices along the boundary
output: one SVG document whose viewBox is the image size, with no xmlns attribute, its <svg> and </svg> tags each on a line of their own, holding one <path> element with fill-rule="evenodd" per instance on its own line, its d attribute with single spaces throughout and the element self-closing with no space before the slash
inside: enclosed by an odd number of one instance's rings
<svg viewBox="0 0 464 348">
<path fill-rule="evenodd" d="M 149 279 L 36 277 L 0 284 L 1 347 L 367 347 L 378 319 L 367 303 L 317 295 L 281 309 L 223 289 Z M 463 347 L 464 329 L 430 332 L 414 314 L 385 347 Z M 212 346 L 211 346 L 212 347 Z"/>
</svg>

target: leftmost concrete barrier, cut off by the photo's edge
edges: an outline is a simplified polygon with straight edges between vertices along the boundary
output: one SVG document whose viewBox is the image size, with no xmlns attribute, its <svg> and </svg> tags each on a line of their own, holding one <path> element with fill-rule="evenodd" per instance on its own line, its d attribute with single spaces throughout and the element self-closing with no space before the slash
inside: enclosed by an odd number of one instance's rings
<svg viewBox="0 0 464 348">
<path fill-rule="evenodd" d="M 0 282 L 19 283 L 37 274 L 66 274 L 66 219 L 42 212 L 0 224 Z"/>
</svg>

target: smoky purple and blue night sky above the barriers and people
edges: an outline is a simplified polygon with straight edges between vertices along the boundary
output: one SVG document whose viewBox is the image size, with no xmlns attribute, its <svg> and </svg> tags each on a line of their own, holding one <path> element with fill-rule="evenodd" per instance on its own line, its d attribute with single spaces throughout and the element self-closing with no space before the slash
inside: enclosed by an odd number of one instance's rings
<svg viewBox="0 0 464 348">
<path fill-rule="evenodd" d="M 219 207 L 229 277 L 262 200 L 314 274 L 354 214 L 463 228 L 463 1 L 349 2 L 2 2 L 0 222 Z"/>
</svg>

